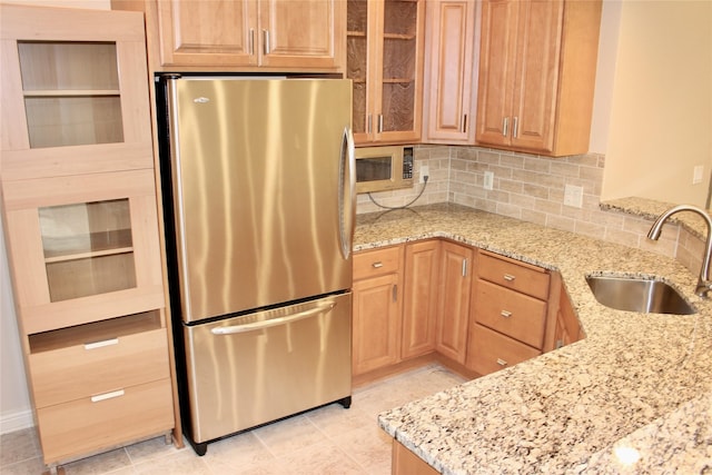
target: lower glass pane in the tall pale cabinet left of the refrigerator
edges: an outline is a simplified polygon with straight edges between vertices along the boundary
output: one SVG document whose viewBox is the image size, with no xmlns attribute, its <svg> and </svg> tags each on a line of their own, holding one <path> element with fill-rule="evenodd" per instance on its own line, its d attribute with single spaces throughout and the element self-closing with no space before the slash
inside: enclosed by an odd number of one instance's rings
<svg viewBox="0 0 712 475">
<path fill-rule="evenodd" d="M 50 301 L 136 287 L 129 200 L 39 208 Z"/>
</svg>

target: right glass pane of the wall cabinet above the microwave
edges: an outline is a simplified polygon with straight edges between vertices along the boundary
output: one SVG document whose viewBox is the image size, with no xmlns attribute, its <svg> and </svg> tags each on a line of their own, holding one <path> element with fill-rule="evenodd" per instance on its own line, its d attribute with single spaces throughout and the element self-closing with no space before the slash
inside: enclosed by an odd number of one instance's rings
<svg viewBox="0 0 712 475">
<path fill-rule="evenodd" d="M 382 131 L 413 130 L 418 3 L 386 0 L 383 34 Z"/>
</svg>

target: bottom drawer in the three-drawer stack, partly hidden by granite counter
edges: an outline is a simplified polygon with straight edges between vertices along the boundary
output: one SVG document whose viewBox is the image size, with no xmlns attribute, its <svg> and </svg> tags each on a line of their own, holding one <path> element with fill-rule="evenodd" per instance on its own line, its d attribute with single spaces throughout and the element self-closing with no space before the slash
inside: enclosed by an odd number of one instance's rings
<svg viewBox="0 0 712 475">
<path fill-rule="evenodd" d="M 475 324 L 471 333 L 467 367 L 487 375 L 541 354 L 531 346 Z"/>
</svg>

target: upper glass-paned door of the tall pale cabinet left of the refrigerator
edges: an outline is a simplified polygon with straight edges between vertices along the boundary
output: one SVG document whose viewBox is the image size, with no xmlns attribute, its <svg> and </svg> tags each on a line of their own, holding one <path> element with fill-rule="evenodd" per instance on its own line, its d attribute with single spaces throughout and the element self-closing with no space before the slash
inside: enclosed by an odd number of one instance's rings
<svg viewBox="0 0 712 475">
<path fill-rule="evenodd" d="M 2 4 L 0 22 L 3 180 L 152 169 L 141 14 Z"/>
</svg>

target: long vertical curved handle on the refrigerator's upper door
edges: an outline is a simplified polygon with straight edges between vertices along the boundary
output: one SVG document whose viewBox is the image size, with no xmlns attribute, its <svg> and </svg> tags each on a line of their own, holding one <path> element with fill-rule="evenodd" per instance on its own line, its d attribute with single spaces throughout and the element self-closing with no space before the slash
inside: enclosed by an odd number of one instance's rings
<svg viewBox="0 0 712 475">
<path fill-rule="evenodd" d="M 356 154 L 354 147 L 354 132 L 349 127 L 346 127 L 342 138 L 338 191 L 339 238 L 344 259 L 348 259 L 350 256 L 356 226 Z"/>
</svg>

